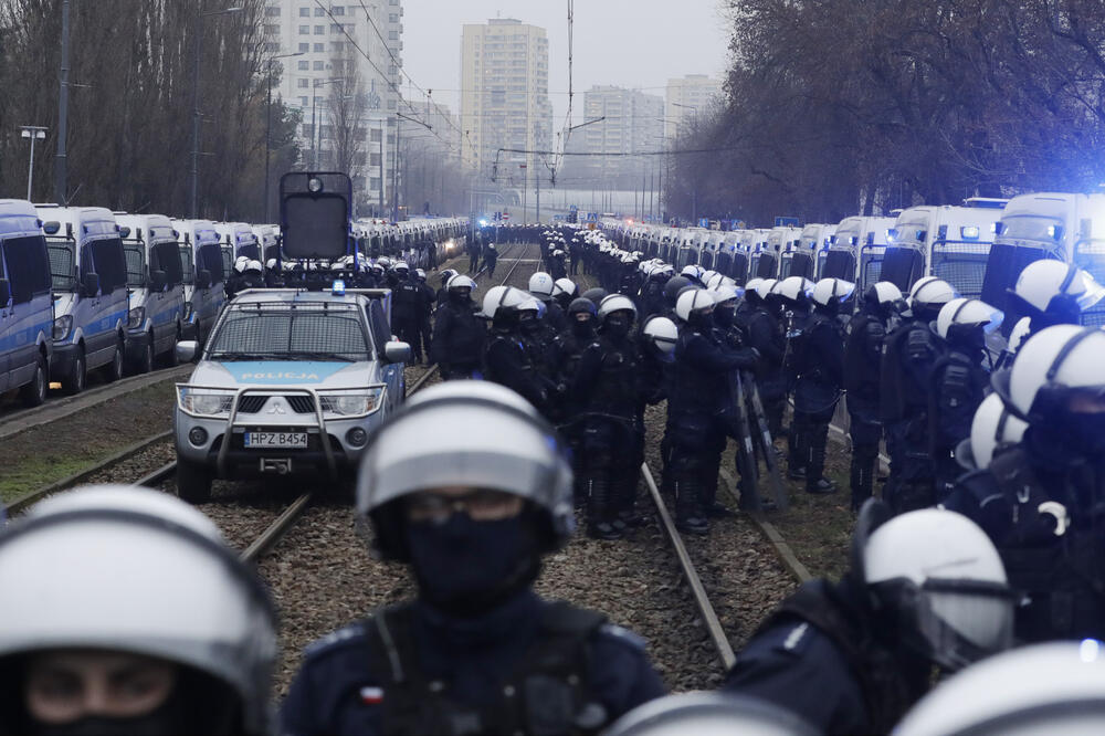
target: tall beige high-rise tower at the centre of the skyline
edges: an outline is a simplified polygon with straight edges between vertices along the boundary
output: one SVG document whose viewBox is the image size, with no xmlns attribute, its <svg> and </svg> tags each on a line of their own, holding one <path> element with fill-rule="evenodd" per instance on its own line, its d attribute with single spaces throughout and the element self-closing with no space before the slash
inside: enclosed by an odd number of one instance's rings
<svg viewBox="0 0 1105 736">
<path fill-rule="evenodd" d="M 550 150 L 549 44 L 545 29 L 502 18 L 461 33 L 461 150 L 466 167 L 499 181 L 537 176 Z M 497 166 L 496 166 L 497 158 Z M 526 166 L 526 169 L 522 169 Z"/>
</svg>

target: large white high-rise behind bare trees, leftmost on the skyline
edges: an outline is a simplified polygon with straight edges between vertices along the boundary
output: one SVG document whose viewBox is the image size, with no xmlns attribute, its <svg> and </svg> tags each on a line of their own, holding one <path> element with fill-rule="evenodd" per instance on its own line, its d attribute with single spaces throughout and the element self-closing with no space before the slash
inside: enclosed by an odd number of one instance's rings
<svg viewBox="0 0 1105 736">
<path fill-rule="evenodd" d="M 273 96 L 301 112 L 302 164 L 347 170 L 358 214 L 390 207 L 402 17 L 402 0 L 266 0 L 266 52 L 299 54 L 275 62 Z"/>
</svg>

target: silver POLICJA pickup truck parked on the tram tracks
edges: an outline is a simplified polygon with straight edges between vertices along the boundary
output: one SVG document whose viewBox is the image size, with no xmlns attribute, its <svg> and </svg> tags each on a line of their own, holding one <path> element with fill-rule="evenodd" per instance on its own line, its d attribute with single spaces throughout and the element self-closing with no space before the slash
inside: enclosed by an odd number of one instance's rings
<svg viewBox="0 0 1105 736">
<path fill-rule="evenodd" d="M 411 348 L 391 339 L 391 292 L 248 290 L 177 385 L 177 492 L 201 503 L 214 479 L 355 472 L 369 432 L 403 399 Z M 181 341 L 177 358 L 200 347 Z"/>
</svg>

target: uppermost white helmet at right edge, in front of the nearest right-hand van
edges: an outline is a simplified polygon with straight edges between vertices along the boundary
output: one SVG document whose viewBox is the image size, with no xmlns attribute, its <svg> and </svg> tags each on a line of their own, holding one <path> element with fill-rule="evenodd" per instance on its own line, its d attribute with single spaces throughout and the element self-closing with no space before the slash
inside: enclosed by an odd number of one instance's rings
<svg viewBox="0 0 1105 736">
<path fill-rule="evenodd" d="M 1105 296 L 1105 286 L 1073 263 L 1042 260 L 1024 266 L 1010 292 L 1022 313 L 1048 314 L 1077 324 L 1078 314 Z"/>
</svg>

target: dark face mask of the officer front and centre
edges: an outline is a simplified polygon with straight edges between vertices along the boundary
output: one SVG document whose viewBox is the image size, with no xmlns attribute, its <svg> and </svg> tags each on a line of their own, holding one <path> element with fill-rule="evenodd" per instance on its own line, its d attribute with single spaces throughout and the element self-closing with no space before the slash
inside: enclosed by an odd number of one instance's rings
<svg viewBox="0 0 1105 736">
<path fill-rule="evenodd" d="M 494 608 L 540 569 L 524 516 L 474 522 L 455 513 L 444 524 L 408 524 L 407 545 L 421 598 L 454 616 Z"/>
</svg>

